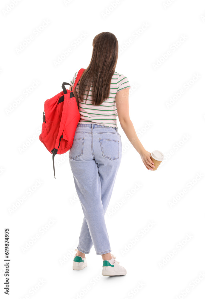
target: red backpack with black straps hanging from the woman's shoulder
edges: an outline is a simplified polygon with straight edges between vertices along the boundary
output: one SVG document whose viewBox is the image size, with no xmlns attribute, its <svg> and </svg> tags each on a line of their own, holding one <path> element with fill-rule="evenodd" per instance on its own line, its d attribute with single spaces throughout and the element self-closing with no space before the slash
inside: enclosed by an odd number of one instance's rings
<svg viewBox="0 0 205 299">
<path fill-rule="evenodd" d="M 73 90 L 84 70 L 85 68 L 79 70 Z M 56 154 L 64 154 L 72 147 L 75 130 L 80 120 L 80 113 L 72 87 L 70 91 L 65 88 L 65 85 L 70 84 L 63 82 L 63 91 L 45 101 L 42 130 L 39 135 L 40 141 L 44 144 L 47 150 L 53 154 L 53 171 L 55 179 L 54 157 Z"/>
</svg>

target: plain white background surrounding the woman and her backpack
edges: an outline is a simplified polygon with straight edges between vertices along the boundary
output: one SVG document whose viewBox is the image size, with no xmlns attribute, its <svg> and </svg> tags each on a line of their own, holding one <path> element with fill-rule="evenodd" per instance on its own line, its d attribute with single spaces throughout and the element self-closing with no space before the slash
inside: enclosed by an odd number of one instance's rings
<svg viewBox="0 0 205 299">
<path fill-rule="evenodd" d="M 1 1 L 0 25 L 1 294 L 9 228 L 12 299 L 204 298 L 204 1 Z M 43 30 L 35 35 L 36 28 Z M 88 266 L 72 269 L 83 212 L 69 152 L 56 155 L 54 179 L 52 155 L 39 141 L 44 101 L 87 68 L 93 38 L 104 31 L 118 39 L 115 71 L 130 82 L 138 137 L 147 151 L 165 157 L 157 171 L 148 171 L 118 121 L 123 156 L 105 218 L 111 254 L 127 269 L 121 277 L 101 276 L 94 247 Z"/>
</svg>

